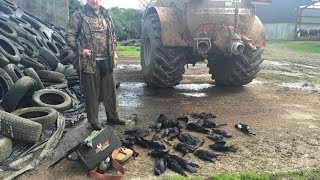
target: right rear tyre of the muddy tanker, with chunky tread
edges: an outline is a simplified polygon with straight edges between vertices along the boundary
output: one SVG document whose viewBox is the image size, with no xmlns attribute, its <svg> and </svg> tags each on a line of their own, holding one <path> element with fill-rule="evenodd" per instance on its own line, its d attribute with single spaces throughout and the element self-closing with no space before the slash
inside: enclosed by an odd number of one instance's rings
<svg viewBox="0 0 320 180">
<path fill-rule="evenodd" d="M 261 70 L 263 49 L 245 46 L 244 52 L 231 58 L 208 56 L 208 66 L 217 86 L 242 86 L 256 78 Z"/>
</svg>

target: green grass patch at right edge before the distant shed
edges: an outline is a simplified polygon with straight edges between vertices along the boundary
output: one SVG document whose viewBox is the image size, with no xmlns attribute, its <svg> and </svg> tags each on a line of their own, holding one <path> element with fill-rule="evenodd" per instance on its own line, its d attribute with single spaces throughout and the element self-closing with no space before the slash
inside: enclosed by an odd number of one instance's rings
<svg viewBox="0 0 320 180">
<path fill-rule="evenodd" d="M 306 52 L 306 53 L 320 53 L 319 41 L 280 41 L 281 44 L 289 49 Z"/>
</svg>

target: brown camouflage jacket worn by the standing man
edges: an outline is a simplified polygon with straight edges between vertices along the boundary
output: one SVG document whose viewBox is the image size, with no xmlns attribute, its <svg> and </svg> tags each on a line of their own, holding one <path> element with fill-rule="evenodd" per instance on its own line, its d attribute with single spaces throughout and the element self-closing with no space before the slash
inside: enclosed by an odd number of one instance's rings
<svg viewBox="0 0 320 180">
<path fill-rule="evenodd" d="M 78 71 L 85 73 L 95 73 L 96 58 L 106 58 L 106 63 L 111 71 L 114 67 L 115 34 L 112 18 L 108 11 L 100 6 L 99 14 L 87 4 L 80 11 L 73 14 L 70 19 L 67 42 L 75 51 L 78 51 L 77 41 L 80 41 L 81 49 L 90 49 L 93 51 L 91 57 L 80 56 L 80 67 L 78 58 L 74 61 L 74 66 Z"/>
</svg>

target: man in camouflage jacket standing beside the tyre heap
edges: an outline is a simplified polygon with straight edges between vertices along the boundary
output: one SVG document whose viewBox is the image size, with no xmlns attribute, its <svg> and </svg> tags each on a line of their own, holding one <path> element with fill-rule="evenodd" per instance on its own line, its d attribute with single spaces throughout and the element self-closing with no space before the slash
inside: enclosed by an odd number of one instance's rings
<svg viewBox="0 0 320 180">
<path fill-rule="evenodd" d="M 114 82 L 115 35 L 108 11 L 100 6 L 101 0 L 87 0 L 80 11 L 70 19 L 67 41 L 77 49 L 80 42 L 80 62 L 75 67 L 80 73 L 85 97 L 88 122 L 95 130 L 101 129 L 98 119 L 99 96 L 102 97 L 108 123 L 124 125 L 118 113 L 118 102 Z"/>
</svg>

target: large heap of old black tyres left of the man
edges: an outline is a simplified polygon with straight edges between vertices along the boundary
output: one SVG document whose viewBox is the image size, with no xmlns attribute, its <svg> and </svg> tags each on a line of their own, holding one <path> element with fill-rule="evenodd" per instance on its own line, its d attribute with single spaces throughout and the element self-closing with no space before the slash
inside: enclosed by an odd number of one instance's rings
<svg viewBox="0 0 320 180">
<path fill-rule="evenodd" d="M 35 143 L 52 128 L 71 98 L 48 88 L 77 77 L 65 31 L 0 0 L 0 162 L 12 142 Z"/>
</svg>

